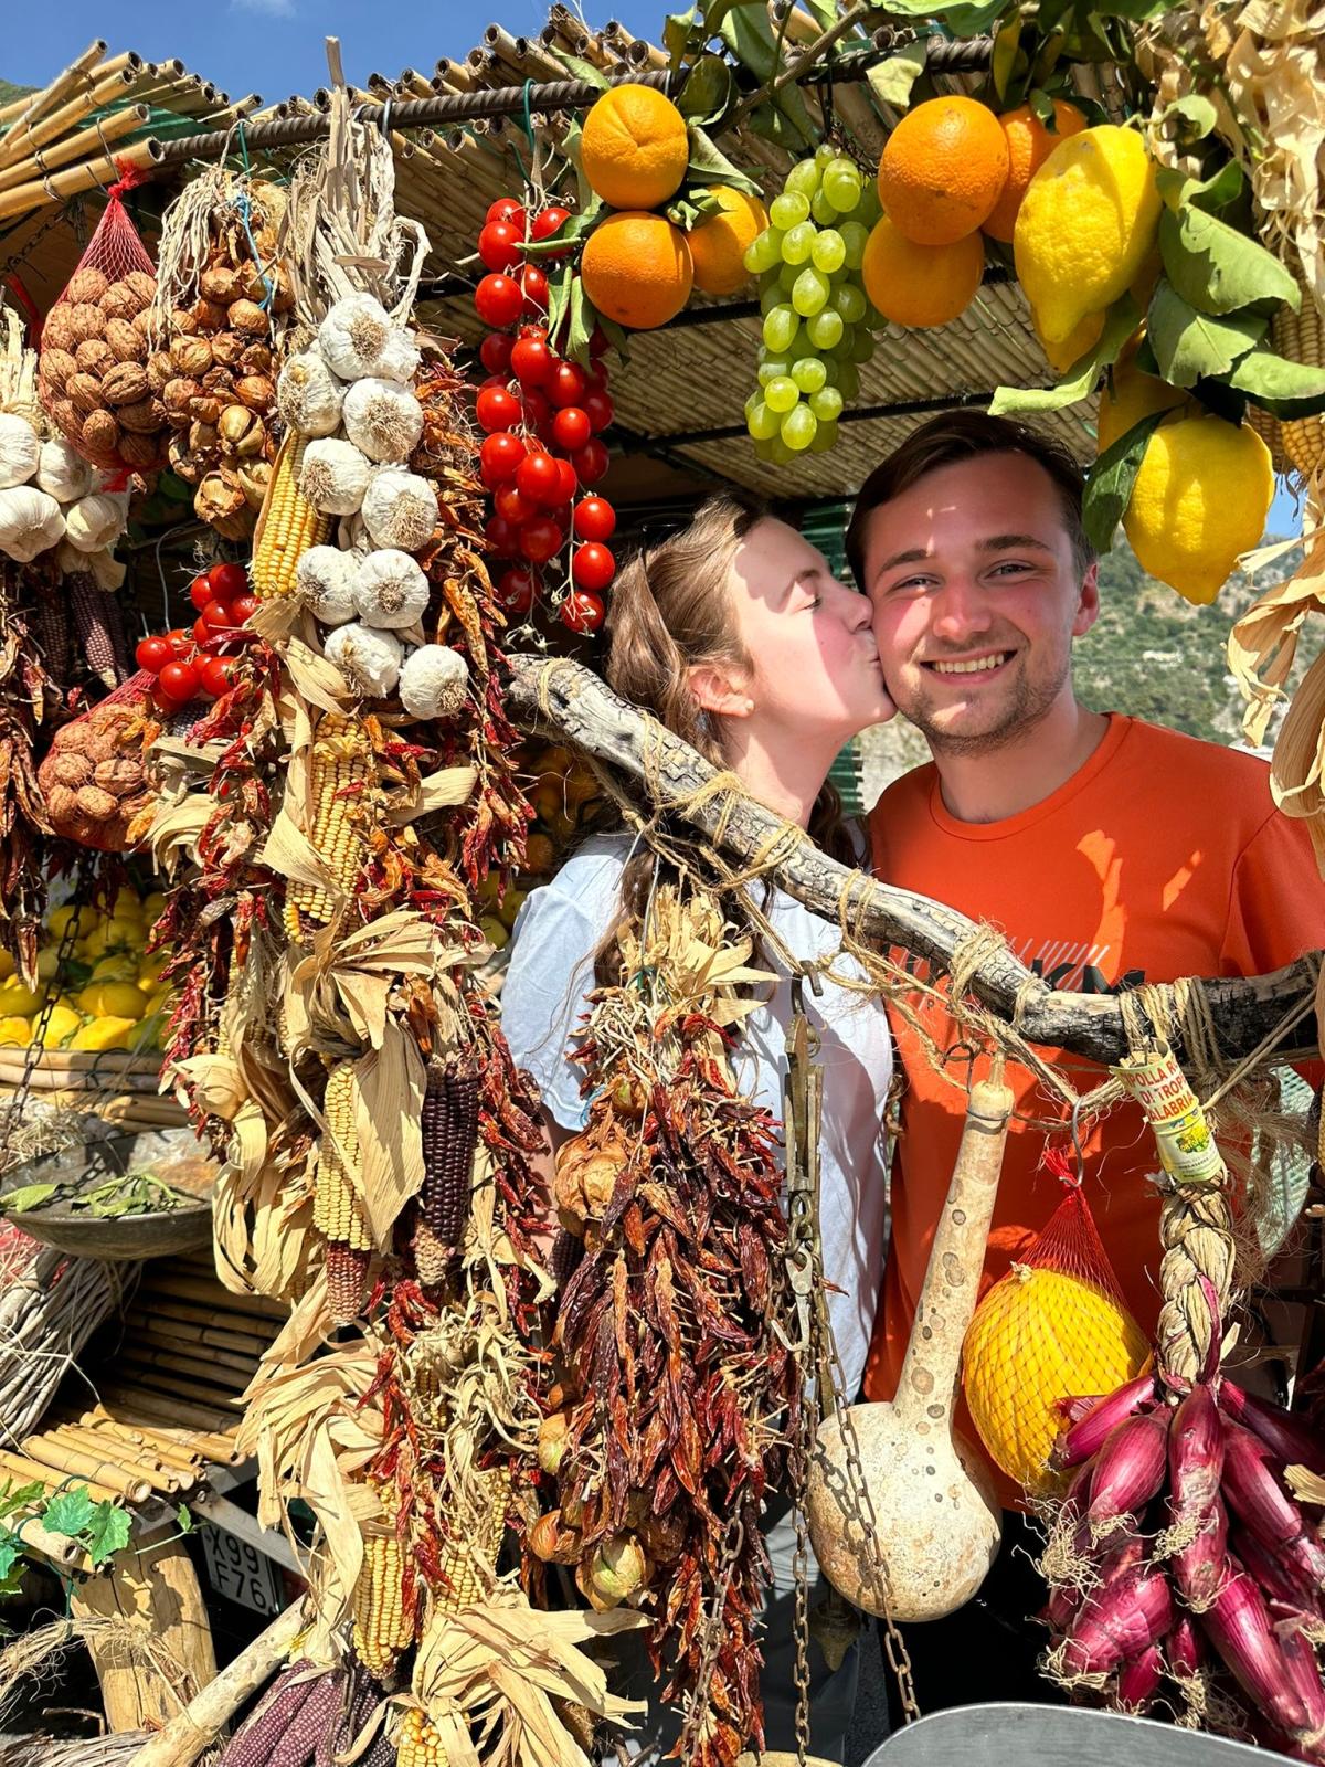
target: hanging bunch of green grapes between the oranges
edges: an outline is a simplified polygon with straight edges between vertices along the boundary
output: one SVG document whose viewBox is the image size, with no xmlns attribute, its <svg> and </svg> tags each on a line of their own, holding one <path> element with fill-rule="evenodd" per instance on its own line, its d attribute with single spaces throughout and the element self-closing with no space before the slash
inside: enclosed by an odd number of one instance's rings
<svg viewBox="0 0 1325 1767">
<path fill-rule="evenodd" d="M 860 283 L 880 214 L 873 178 L 825 143 L 791 166 L 770 224 L 746 251 L 763 313 L 760 387 L 746 401 L 760 459 L 784 466 L 837 440 L 843 406 L 860 391 L 860 362 L 874 353 L 871 330 L 885 323 Z"/>
</svg>

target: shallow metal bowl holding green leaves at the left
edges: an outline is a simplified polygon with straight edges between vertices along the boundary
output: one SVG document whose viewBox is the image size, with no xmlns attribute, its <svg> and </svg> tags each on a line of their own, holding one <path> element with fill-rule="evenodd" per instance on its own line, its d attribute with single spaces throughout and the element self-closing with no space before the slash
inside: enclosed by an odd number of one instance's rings
<svg viewBox="0 0 1325 1767">
<path fill-rule="evenodd" d="M 210 1193 L 217 1170 L 216 1159 L 200 1147 L 193 1129 L 145 1129 L 141 1134 L 80 1141 L 9 1172 L 0 1191 L 0 1216 L 32 1239 L 74 1258 L 168 1258 L 178 1251 L 198 1251 L 210 1242 Z M 110 1217 L 76 1212 L 67 1200 L 19 1214 L 5 1209 L 5 1196 L 28 1184 L 76 1184 L 83 1191 L 131 1172 L 152 1172 L 164 1184 L 189 1191 L 196 1202 L 159 1214 Z"/>
</svg>

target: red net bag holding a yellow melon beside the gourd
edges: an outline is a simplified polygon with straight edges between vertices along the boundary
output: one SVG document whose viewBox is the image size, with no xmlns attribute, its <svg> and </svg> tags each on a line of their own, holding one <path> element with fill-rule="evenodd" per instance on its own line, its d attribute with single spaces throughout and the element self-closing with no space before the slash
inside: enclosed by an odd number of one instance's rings
<svg viewBox="0 0 1325 1767">
<path fill-rule="evenodd" d="M 1127 1311 L 1090 1205 L 1065 1157 L 1044 1164 L 1069 1186 L 1044 1230 L 975 1309 L 963 1382 L 980 1440 L 1002 1472 L 1032 1493 L 1060 1484 L 1049 1470 L 1062 1403 L 1113 1392 L 1141 1373 L 1150 1341 Z"/>
</svg>

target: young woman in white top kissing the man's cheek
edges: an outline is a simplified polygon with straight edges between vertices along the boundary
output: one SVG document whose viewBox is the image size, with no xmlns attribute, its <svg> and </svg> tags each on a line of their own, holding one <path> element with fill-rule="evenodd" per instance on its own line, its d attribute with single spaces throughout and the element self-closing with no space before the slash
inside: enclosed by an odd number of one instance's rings
<svg viewBox="0 0 1325 1767">
<path fill-rule="evenodd" d="M 634 558 L 618 578 L 610 618 L 608 682 L 652 712 L 751 797 L 800 823 L 836 857 L 862 846 L 841 825 L 825 785 L 843 744 L 894 712 L 864 595 L 837 583 L 795 528 L 731 498 L 707 502 L 694 521 Z M 567 1060 L 594 988 L 604 935 L 624 906 L 643 905 L 652 855 L 629 834 L 590 838 L 553 884 L 534 891 L 514 928 L 502 990 L 502 1025 L 516 1064 L 542 1088 L 553 1149 L 579 1129 L 581 1069 Z M 781 891 L 754 885 L 776 938 L 800 963 L 859 977 L 834 926 Z M 774 951 L 760 967 L 779 970 Z M 823 1127 L 820 1221 L 829 1311 L 850 1396 L 860 1384 L 883 1267 L 885 1101 L 892 1044 L 882 1002 L 825 979 L 804 990 L 822 1039 Z M 742 1021 L 733 1057 L 742 1092 L 781 1122 L 791 988 Z M 768 1749 L 795 1749 L 791 1546 L 772 1521 L 774 1601 L 767 1615 L 763 1703 Z M 857 1652 L 829 1675 L 816 1647 L 813 1751 L 843 1758 L 855 1703 Z M 629 1689 L 638 1695 L 641 1689 Z"/>
</svg>

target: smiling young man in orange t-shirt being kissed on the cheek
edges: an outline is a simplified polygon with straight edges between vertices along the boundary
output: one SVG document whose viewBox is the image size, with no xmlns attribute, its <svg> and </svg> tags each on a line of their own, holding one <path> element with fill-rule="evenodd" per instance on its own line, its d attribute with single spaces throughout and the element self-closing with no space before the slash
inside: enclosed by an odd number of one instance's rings
<svg viewBox="0 0 1325 1767">
<path fill-rule="evenodd" d="M 938 417 L 869 475 L 846 551 L 874 608 L 889 691 L 933 753 L 873 811 L 880 878 L 991 922 L 1055 988 L 1086 993 L 1256 975 L 1325 940 L 1306 825 L 1276 811 L 1263 762 L 1076 698 L 1072 640 L 1094 624 L 1099 587 L 1071 456 L 984 413 Z M 935 1046 L 950 1053 L 938 1073 L 897 1016 L 906 1090 L 866 1373 L 874 1399 L 896 1387 L 965 1108 L 968 1051 L 942 1004 L 922 1011 Z M 1104 1078 L 1072 1057 L 1060 1066 L 1078 1092 Z M 1069 1145 L 1062 1101 L 1025 1069 L 1011 1069 L 1009 1083 L 1018 1113 L 1062 1120 L 1053 1140 Z M 1062 1200 L 1041 1170 L 1044 1141 L 1042 1129 L 1014 1122 L 986 1286 Z M 1152 1138 L 1134 1108 L 1117 1106 L 1083 1145 L 1086 1198 L 1148 1331 L 1159 1309 Z M 1014 1500 L 1011 1486 L 1003 1500 Z M 980 1601 L 910 1627 L 922 1710 L 1049 1696 L 1034 1670 L 1042 1587 L 1018 1551 L 1025 1525 L 1007 1520 Z"/>
</svg>

